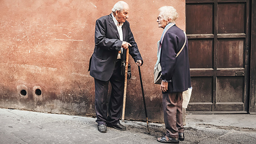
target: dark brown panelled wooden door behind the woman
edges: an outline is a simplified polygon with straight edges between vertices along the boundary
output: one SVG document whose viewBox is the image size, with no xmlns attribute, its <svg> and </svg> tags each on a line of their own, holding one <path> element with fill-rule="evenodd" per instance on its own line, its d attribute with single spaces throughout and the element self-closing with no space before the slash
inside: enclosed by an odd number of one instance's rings
<svg viewBox="0 0 256 144">
<path fill-rule="evenodd" d="M 188 112 L 247 113 L 249 0 L 186 0 Z"/>
</svg>

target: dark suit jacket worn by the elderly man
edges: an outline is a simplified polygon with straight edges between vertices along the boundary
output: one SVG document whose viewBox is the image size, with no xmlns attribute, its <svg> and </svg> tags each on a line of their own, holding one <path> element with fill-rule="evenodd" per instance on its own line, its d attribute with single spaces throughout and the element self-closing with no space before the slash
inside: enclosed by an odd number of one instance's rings
<svg viewBox="0 0 256 144">
<path fill-rule="evenodd" d="M 133 33 L 128 21 L 123 23 L 123 41 L 129 42 L 129 53 L 134 61 L 142 60 Z M 95 47 L 90 59 L 90 75 L 101 81 L 108 81 L 114 71 L 118 51 L 121 50 L 122 41 L 112 19 L 112 15 L 102 16 L 95 24 Z M 123 49 L 122 59 L 126 58 L 126 50 Z"/>
</svg>

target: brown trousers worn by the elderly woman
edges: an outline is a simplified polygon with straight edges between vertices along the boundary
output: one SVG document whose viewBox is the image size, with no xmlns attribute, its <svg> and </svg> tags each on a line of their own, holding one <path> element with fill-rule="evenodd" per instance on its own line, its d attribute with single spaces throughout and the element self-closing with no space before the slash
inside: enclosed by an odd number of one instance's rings
<svg viewBox="0 0 256 144">
<path fill-rule="evenodd" d="M 184 132 L 182 123 L 182 92 L 163 94 L 163 116 L 166 135 L 178 138 L 179 132 Z"/>
</svg>

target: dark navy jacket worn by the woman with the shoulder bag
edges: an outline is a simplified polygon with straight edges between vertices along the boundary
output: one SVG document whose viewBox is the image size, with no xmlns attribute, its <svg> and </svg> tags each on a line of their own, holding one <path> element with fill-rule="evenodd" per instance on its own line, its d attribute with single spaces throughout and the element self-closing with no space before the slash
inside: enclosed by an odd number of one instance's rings
<svg viewBox="0 0 256 144">
<path fill-rule="evenodd" d="M 161 78 L 172 81 L 168 83 L 168 91 L 165 93 L 182 92 L 191 87 L 188 40 L 182 52 L 176 57 L 185 38 L 183 31 L 176 25 L 165 33 L 160 57 L 163 74 Z"/>
</svg>

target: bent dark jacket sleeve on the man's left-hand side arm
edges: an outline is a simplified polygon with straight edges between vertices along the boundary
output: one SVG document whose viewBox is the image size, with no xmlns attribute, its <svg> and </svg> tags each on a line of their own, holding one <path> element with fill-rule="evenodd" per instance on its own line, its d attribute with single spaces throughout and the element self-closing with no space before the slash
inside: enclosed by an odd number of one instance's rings
<svg viewBox="0 0 256 144">
<path fill-rule="evenodd" d="M 106 37 L 105 23 L 101 20 L 97 20 L 95 24 L 95 45 L 109 51 L 120 50 L 122 41 L 119 39 L 109 39 Z"/>
</svg>

